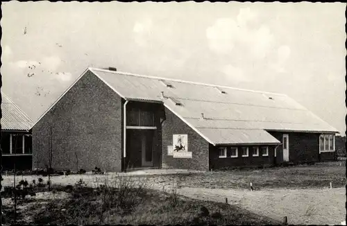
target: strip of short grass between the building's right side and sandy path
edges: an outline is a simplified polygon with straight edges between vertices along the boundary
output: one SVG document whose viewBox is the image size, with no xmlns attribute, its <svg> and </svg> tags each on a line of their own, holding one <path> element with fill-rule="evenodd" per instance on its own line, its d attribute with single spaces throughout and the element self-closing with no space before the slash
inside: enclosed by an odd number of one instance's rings
<svg viewBox="0 0 347 226">
<path fill-rule="evenodd" d="M 252 182 L 255 189 L 307 189 L 346 185 L 345 164 L 321 163 L 262 169 L 213 171 L 176 175 L 146 175 L 149 182 L 167 185 L 176 181 L 179 186 L 208 189 L 248 189 Z"/>
</svg>

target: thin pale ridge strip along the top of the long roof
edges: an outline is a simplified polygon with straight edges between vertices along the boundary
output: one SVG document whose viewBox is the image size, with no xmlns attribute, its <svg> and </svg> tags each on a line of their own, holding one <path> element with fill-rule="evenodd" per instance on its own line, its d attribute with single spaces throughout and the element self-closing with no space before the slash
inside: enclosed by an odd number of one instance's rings
<svg viewBox="0 0 347 226">
<path fill-rule="evenodd" d="M 103 71 L 103 72 L 108 72 L 108 73 L 116 73 L 116 74 L 121 74 L 124 76 L 136 76 L 136 77 L 141 77 L 141 78 L 153 78 L 153 79 L 158 79 L 158 80 L 170 80 L 173 82 L 183 82 L 183 83 L 189 83 L 189 84 L 194 84 L 194 85 L 205 85 L 205 86 L 210 86 L 210 87 L 220 87 L 220 88 L 226 88 L 226 89 L 235 89 L 235 90 L 240 90 L 240 91 L 245 91 L 245 92 L 254 92 L 254 93 L 260 93 L 260 94 L 273 94 L 273 95 L 278 95 L 278 96 L 287 96 L 286 94 L 280 94 L 280 93 L 275 93 L 275 92 L 263 92 L 260 90 L 252 90 L 252 89 L 242 89 L 242 88 L 237 88 L 237 87 L 229 87 L 225 85 L 215 85 L 215 84 L 208 84 L 208 83 L 203 83 L 203 82 L 193 82 L 193 81 L 188 81 L 188 80 L 180 80 L 176 78 L 164 78 L 164 77 L 158 77 L 158 76 L 146 76 L 146 75 L 140 75 L 137 73 L 130 73 L 130 72 L 124 72 L 124 71 L 110 71 L 108 69 L 99 69 L 95 67 L 88 67 L 88 69 L 95 70 L 95 71 Z"/>
</svg>

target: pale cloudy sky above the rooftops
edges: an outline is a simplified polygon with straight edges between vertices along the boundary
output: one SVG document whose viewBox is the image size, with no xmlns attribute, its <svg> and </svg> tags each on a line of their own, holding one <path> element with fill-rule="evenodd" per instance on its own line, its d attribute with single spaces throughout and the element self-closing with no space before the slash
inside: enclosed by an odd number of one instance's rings
<svg viewBox="0 0 347 226">
<path fill-rule="evenodd" d="M 37 120 L 87 67 L 287 94 L 345 133 L 345 3 L 1 5 L 1 91 Z"/>
</svg>

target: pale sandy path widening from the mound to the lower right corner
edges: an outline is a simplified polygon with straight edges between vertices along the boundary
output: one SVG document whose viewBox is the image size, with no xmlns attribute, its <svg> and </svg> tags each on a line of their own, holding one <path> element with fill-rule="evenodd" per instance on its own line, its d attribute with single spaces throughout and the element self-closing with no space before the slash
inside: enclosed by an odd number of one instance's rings
<svg viewBox="0 0 347 226">
<path fill-rule="evenodd" d="M 247 191 L 224 189 L 178 189 L 180 195 L 237 205 L 255 214 L 294 225 L 339 225 L 346 218 L 345 189 L 297 189 Z"/>
</svg>

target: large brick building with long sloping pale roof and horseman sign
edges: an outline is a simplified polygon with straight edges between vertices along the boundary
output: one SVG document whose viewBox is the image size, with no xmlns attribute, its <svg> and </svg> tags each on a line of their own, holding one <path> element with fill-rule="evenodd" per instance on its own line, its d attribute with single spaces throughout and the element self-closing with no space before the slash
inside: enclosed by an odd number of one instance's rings
<svg viewBox="0 0 347 226">
<path fill-rule="evenodd" d="M 317 162 L 333 159 L 336 132 L 283 94 L 90 68 L 33 126 L 33 167 Z"/>
</svg>

